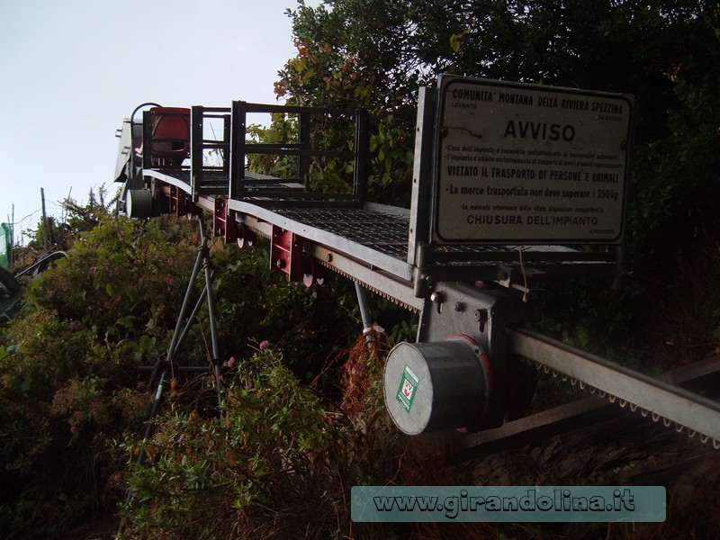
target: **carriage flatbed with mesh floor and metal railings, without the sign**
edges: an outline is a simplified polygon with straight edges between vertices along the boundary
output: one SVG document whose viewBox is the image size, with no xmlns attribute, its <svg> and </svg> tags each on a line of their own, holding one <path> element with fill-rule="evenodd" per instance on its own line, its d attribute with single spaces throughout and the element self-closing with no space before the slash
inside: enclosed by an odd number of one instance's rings
<svg viewBox="0 0 720 540">
<path fill-rule="evenodd" d="M 136 164 L 139 181 L 153 197 L 166 197 L 164 208 L 178 214 L 195 206 L 213 212 L 215 234 L 226 239 L 236 235 L 260 234 L 271 238 L 290 235 L 273 247 L 282 260 L 274 260 L 291 277 L 302 273 L 298 258 L 311 257 L 319 266 L 347 275 L 392 300 L 420 309 L 428 291 L 441 282 L 495 282 L 523 290 L 539 279 L 564 276 L 612 275 L 617 271 L 617 246 L 583 246 L 558 242 L 552 245 L 512 243 L 512 241 L 444 241 L 436 233 L 437 186 L 431 171 L 433 126 L 425 125 L 433 103 L 421 100 L 412 184 L 412 207 L 398 208 L 367 202 L 369 161 L 368 127 L 365 112 L 259 105 L 234 102 L 231 108 L 195 106 L 187 110 L 190 132 L 184 159 L 153 155 Z M 428 108 L 429 107 L 429 108 Z M 295 141 L 257 144 L 245 139 L 247 112 L 284 112 L 295 114 L 310 125 L 313 114 L 338 114 L 340 120 L 355 119 L 355 140 L 348 141 L 350 151 L 312 148 L 308 130 L 298 128 Z M 168 112 L 173 117 L 176 110 Z M 157 118 L 157 112 L 156 112 Z M 221 119 L 225 128 L 218 139 L 207 139 L 204 124 Z M 153 148 L 152 117 L 144 119 L 146 148 Z M 235 130 L 234 126 L 241 126 Z M 348 132 L 351 130 L 348 130 Z M 216 130 L 212 130 L 213 134 Z M 303 139 L 303 135 L 305 134 Z M 209 160 L 211 153 L 214 161 Z M 247 170 L 247 157 L 257 154 L 294 157 L 297 165 L 291 175 L 280 178 Z M 335 184 L 327 193 L 313 189 L 312 159 L 345 160 L 344 170 L 352 171 L 347 184 Z M 429 161 L 428 161 L 429 160 Z M 316 169 L 317 170 L 317 169 Z M 127 184 L 130 184 L 128 182 Z M 233 232 L 235 230 L 238 232 Z M 289 255 L 295 244 L 302 244 L 302 255 Z M 284 254 L 287 251 L 288 254 Z M 293 268 L 285 268 L 285 258 Z M 272 257 L 271 257 L 272 258 Z M 302 266 L 308 266 L 307 261 Z M 303 270 L 304 271 L 304 270 Z"/>
</svg>

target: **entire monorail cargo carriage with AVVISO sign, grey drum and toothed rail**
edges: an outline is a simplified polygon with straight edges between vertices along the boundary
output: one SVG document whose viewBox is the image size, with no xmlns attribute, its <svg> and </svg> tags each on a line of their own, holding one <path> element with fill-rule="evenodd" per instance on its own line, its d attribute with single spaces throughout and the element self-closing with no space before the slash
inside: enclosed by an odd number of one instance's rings
<svg viewBox="0 0 720 540">
<path fill-rule="evenodd" d="M 269 238 L 290 279 L 352 279 L 366 328 L 359 285 L 419 313 L 417 343 L 395 347 L 385 369 L 406 433 L 500 426 L 532 394 L 522 356 L 720 441 L 713 402 L 517 330 L 538 316 L 538 282 L 618 275 L 633 106 L 626 94 L 441 76 L 419 94 L 404 209 L 367 201 L 364 110 L 144 103 L 119 130 L 115 179 L 130 216 L 207 211 L 213 234 L 240 247 Z M 290 135 L 248 138 L 257 114 Z M 247 167 L 263 159 L 284 173 Z"/>
</svg>

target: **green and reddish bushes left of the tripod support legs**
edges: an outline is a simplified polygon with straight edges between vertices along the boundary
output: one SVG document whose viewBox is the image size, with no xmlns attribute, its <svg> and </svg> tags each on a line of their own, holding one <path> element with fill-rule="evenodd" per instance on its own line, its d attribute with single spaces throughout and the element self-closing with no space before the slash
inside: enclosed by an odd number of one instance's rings
<svg viewBox="0 0 720 540">
<path fill-rule="evenodd" d="M 105 500 L 112 441 L 148 407 L 135 368 L 162 354 L 166 307 L 192 257 L 173 242 L 182 231 L 160 225 L 100 217 L 30 284 L 0 337 L 5 537 L 47 537 Z"/>
</svg>

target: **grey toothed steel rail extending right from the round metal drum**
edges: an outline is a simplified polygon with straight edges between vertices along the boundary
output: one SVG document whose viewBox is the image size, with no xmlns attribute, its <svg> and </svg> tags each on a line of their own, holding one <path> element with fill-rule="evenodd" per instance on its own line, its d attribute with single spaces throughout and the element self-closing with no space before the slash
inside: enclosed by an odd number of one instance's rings
<svg viewBox="0 0 720 540">
<path fill-rule="evenodd" d="M 720 448 L 720 403 L 529 330 L 509 330 L 511 350 L 545 373 L 639 411 Z"/>
</svg>

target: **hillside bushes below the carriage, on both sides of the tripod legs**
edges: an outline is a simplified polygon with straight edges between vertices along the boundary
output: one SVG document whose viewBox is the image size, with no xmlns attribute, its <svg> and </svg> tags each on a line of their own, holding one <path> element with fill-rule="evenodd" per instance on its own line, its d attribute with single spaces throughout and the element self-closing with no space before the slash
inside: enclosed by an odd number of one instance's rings
<svg viewBox="0 0 720 540">
<path fill-rule="evenodd" d="M 3 537 L 75 538 L 118 516 L 127 538 L 353 536 L 351 486 L 449 478 L 437 449 L 409 446 L 387 419 L 388 338 L 366 347 L 347 282 L 309 290 L 271 272 L 265 246 L 221 240 L 223 404 L 210 370 L 171 371 L 143 441 L 156 388 L 139 367 L 166 356 L 196 221 L 94 217 L 0 334 Z M 210 365 L 198 317 L 179 365 Z"/>
</svg>

